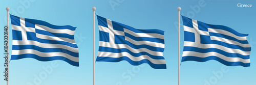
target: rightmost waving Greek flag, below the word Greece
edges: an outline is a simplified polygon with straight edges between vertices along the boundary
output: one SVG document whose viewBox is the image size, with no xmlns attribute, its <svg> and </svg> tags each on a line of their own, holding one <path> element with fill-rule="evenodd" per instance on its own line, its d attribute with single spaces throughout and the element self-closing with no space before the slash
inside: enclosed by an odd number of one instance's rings
<svg viewBox="0 0 256 85">
<path fill-rule="evenodd" d="M 182 16 L 184 48 L 182 62 L 216 60 L 226 66 L 250 66 L 247 34 L 223 25 L 211 25 Z"/>
</svg>

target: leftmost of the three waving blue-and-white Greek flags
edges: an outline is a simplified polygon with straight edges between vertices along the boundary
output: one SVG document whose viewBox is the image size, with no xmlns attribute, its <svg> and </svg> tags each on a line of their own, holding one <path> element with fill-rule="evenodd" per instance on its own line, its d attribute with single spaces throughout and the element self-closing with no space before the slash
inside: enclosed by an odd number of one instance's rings
<svg viewBox="0 0 256 85">
<path fill-rule="evenodd" d="M 33 58 L 38 61 L 62 60 L 79 66 L 76 27 L 57 26 L 48 22 L 11 16 L 11 60 Z"/>
</svg>

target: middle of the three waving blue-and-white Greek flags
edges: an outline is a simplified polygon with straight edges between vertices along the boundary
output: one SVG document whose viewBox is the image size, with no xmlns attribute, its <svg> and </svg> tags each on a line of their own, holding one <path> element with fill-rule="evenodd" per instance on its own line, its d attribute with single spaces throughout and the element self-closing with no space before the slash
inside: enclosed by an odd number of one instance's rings
<svg viewBox="0 0 256 85">
<path fill-rule="evenodd" d="M 155 69 L 166 69 L 163 58 L 164 31 L 138 30 L 101 16 L 99 51 L 96 61 L 127 61 L 132 65 L 149 64 Z"/>
</svg>

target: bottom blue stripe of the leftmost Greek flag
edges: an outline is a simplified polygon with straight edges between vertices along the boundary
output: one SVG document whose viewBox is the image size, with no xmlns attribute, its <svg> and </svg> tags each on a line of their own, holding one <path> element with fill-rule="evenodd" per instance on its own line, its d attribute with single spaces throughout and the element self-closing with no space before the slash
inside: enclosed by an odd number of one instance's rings
<svg viewBox="0 0 256 85">
<path fill-rule="evenodd" d="M 53 61 L 53 60 L 62 60 L 62 61 L 69 63 L 70 65 L 77 66 L 77 67 L 79 66 L 78 62 L 71 61 L 68 58 L 65 58 L 63 56 L 41 57 L 36 54 L 30 54 L 30 53 L 20 54 L 20 55 L 12 55 L 11 60 L 19 60 L 19 59 L 24 59 L 24 58 L 32 58 L 32 59 L 36 59 L 38 61 L 43 61 L 43 62 Z"/>
</svg>

